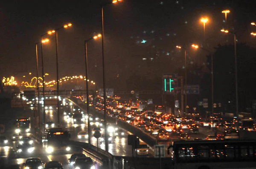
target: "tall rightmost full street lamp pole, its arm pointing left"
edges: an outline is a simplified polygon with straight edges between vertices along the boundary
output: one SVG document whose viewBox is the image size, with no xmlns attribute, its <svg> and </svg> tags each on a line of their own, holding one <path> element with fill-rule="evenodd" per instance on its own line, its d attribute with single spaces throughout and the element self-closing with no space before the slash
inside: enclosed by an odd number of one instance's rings
<svg viewBox="0 0 256 169">
<path fill-rule="evenodd" d="M 238 117 L 239 110 L 238 110 L 238 80 L 237 80 L 236 33 L 235 32 L 230 32 L 230 31 L 225 30 L 225 29 L 221 29 L 221 32 L 230 33 L 230 34 L 234 35 L 235 71 L 236 71 L 236 116 Z"/>
</svg>

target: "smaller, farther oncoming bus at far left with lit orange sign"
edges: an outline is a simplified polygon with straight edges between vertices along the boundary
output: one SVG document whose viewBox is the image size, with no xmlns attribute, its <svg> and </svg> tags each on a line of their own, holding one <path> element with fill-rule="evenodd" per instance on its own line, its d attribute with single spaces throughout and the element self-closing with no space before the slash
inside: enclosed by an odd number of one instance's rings
<svg viewBox="0 0 256 169">
<path fill-rule="evenodd" d="M 30 132 L 30 118 L 18 118 L 15 122 L 15 133 Z"/>
</svg>

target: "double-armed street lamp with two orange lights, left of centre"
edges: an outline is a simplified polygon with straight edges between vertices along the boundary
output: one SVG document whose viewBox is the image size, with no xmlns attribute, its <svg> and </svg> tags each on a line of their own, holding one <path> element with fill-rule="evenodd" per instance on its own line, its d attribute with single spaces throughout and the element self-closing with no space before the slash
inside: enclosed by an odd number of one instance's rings
<svg viewBox="0 0 256 169">
<path fill-rule="evenodd" d="M 56 83 L 57 83 L 57 107 L 58 107 L 58 127 L 60 127 L 60 103 L 59 103 L 59 79 L 58 79 L 58 30 L 62 29 L 62 28 L 68 28 L 71 27 L 72 24 L 68 23 L 66 25 L 61 26 L 60 28 L 54 29 L 52 31 L 47 31 L 47 34 L 51 35 L 53 33 L 55 33 L 55 39 L 56 39 L 56 73 L 57 73 L 57 77 L 56 77 Z M 44 83 L 43 83 L 44 84 Z"/>
</svg>

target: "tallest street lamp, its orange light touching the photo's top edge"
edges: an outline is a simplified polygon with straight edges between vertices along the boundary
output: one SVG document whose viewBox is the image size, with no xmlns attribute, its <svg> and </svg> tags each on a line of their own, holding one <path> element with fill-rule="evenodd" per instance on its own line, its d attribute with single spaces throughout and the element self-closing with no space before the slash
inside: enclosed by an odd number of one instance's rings
<svg viewBox="0 0 256 169">
<path fill-rule="evenodd" d="M 118 3 L 122 0 L 113 0 L 112 3 Z M 105 86 L 105 62 L 104 62 L 104 12 L 103 8 L 106 5 L 109 5 L 111 3 L 105 3 L 101 6 L 101 17 L 102 17 L 102 69 L 103 69 L 103 97 L 104 97 L 104 126 L 105 126 L 105 135 L 108 135 L 107 130 L 107 110 L 106 110 L 106 104 L 107 104 L 107 96 L 106 96 L 106 86 Z M 105 151 L 108 152 L 108 139 L 105 139 Z"/>
</svg>

